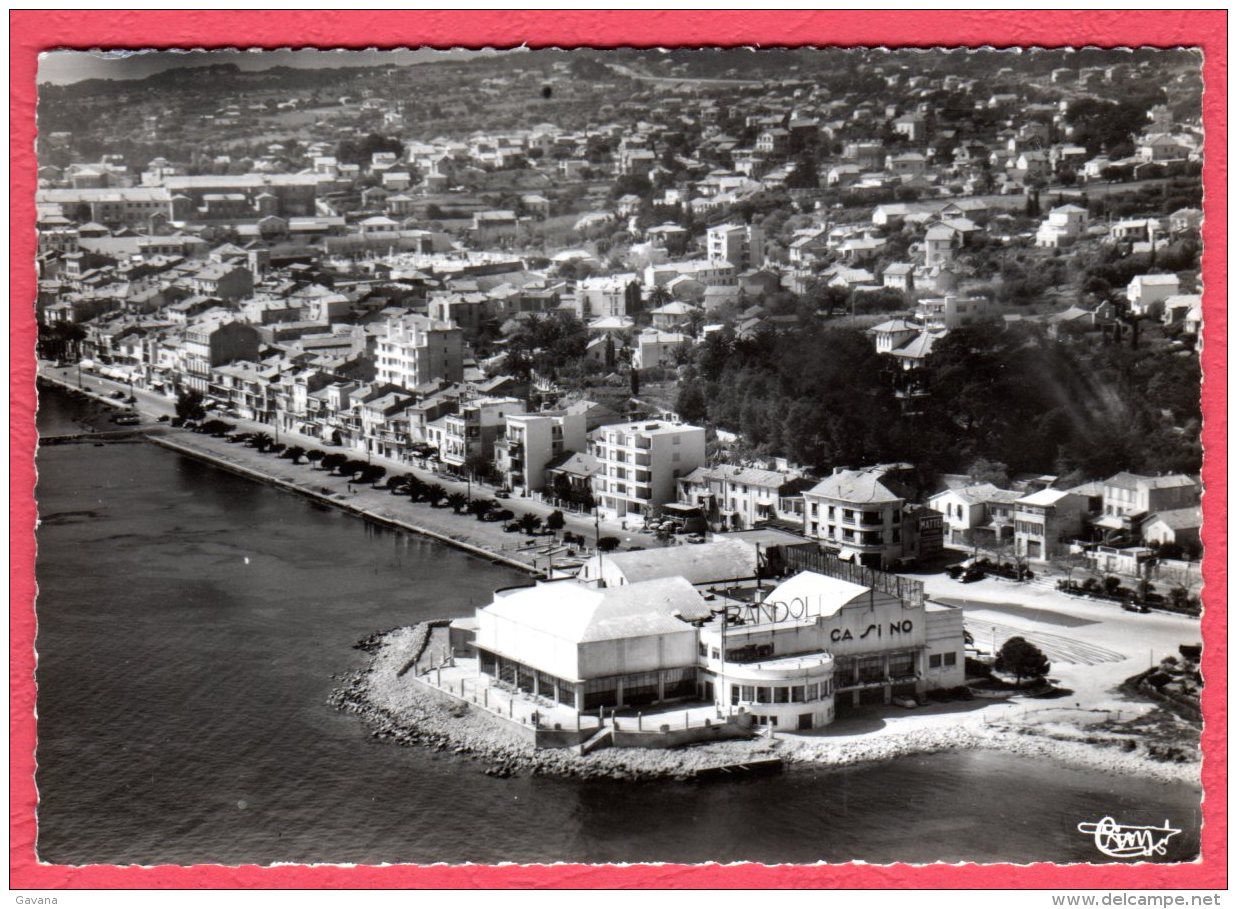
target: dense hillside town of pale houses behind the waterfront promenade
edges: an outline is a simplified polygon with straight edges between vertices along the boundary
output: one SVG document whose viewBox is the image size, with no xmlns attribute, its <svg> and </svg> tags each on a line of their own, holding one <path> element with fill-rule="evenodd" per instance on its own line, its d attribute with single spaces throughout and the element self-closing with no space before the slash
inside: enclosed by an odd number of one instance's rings
<svg viewBox="0 0 1237 909">
<path fill-rule="evenodd" d="M 569 79 L 573 64 L 531 54 L 501 63 L 502 92 L 553 85 L 569 104 L 492 124 L 464 82 L 435 77 L 430 101 L 395 70 L 246 156 L 224 141 L 257 141 L 270 111 L 308 98 L 186 114 L 193 148 L 101 160 L 98 117 L 52 124 L 41 141 L 57 137 L 57 163 L 36 198 L 43 352 L 622 528 L 776 527 L 873 570 L 980 549 L 1033 564 L 1098 545 L 1194 552 L 1192 464 L 1106 481 L 1074 456 L 1007 482 L 928 481 L 904 451 L 847 446 L 867 432 L 854 414 L 771 408 L 764 378 L 721 387 L 738 355 L 776 369 L 799 338 L 857 336 L 873 359 L 833 383 L 891 395 L 862 419 L 913 437 L 939 351 L 969 339 L 1192 356 L 1196 113 L 1157 104 L 1124 141 L 1097 143 L 1071 94 L 1095 78 L 1069 62 L 988 85 L 976 61 L 966 75 L 865 59 L 863 88 L 684 79 L 649 104 L 640 80 Z M 1158 72 L 1134 62 L 1121 84 Z M 1188 67 L 1171 73 L 1192 84 Z M 1095 84 L 1105 104 L 1122 94 Z M 1188 434 L 1158 393 L 1150 406 Z M 729 409 L 713 399 L 727 396 Z M 1034 479 L 1047 471 L 1071 475 Z"/>
</svg>

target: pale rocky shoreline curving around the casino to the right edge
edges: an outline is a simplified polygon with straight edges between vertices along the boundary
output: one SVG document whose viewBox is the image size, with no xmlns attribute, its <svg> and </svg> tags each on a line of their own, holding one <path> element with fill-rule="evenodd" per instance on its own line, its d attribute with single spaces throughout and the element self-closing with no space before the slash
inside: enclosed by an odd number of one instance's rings
<svg viewBox="0 0 1237 909">
<path fill-rule="evenodd" d="M 1143 745 L 1131 748 L 1133 740 L 1128 737 L 1071 736 L 1011 722 L 987 726 L 964 722 L 873 733 L 861 741 L 783 735 L 674 749 L 606 748 L 583 757 L 569 748 L 536 749 L 502 721 L 427 685 L 400 678 L 400 670 L 416 657 L 423 642 L 421 626 L 395 628 L 359 642 L 357 647 L 370 659 L 340 679 L 329 702 L 359 716 L 375 740 L 468 756 L 485 764 L 484 772 L 495 777 L 531 773 L 576 779 L 685 780 L 719 766 L 768 758 L 837 768 L 912 754 L 996 748 L 1106 773 L 1199 783 L 1196 762 L 1155 759 Z"/>
</svg>

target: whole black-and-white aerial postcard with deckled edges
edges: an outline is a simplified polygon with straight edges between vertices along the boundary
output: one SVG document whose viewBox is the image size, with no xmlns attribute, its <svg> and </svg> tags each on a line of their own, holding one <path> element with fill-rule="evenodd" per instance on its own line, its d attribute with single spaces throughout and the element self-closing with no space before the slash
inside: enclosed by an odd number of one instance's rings
<svg viewBox="0 0 1237 909">
<path fill-rule="evenodd" d="M 1199 860 L 1202 62 L 43 53 L 38 860 Z"/>
</svg>

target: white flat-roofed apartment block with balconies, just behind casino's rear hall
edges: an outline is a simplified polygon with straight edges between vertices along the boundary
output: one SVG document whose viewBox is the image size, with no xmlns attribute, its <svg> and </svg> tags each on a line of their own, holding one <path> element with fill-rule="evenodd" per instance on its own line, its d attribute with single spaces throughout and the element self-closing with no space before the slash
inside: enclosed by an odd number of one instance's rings
<svg viewBox="0 0 1237 909">
<path fill-rule="evenodd" d="M 589 451 L 601 466 L 593 497 L 602 517 L 653 517 L 678 497 L 678 481 L 705 461 L 704 429 L 643 420 L 601 427 L 589 435 Z"/>
</svg>

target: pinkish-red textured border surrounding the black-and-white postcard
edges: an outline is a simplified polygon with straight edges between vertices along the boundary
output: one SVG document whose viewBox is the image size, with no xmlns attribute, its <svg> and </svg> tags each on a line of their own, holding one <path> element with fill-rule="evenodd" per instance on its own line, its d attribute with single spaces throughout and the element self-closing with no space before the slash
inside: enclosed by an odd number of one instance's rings
<svg viewBox="0 0 1237 909">
<path fill-rule="evenodd" d="M 15 11 L 10 12 L 10 886 L 20 888 L 1223 888 L 1227 886 L 1226 11 Z M 910 45 L 1204 49 L 1202 469 L 1207 559 L 1202 860 L 1189 866 L 68 867 L 35 861 L 35 74 L 56 47 Z"/>
</svg>

